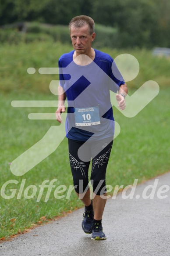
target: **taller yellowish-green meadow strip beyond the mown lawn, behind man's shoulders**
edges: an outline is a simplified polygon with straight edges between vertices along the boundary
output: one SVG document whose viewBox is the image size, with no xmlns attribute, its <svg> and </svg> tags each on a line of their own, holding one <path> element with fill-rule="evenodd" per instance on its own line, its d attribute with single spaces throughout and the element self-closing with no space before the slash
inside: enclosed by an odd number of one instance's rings
<svg viewBox="0 0 170 256">
<path fill-rule="evenodd" d="M 57 75 L 42 75 L 40 67 L 57 67 L 60 56 L 71 51 L 70 45 L 49 42 L 21 43 L 19 45 L 0 45 L 0 89 L 10 91 L 42 92 L 50 94 L 51 80 L 58 79 Z M 152 56 L 148 50 L 111 50 L 102 48 L 113 58 L 119 54 L 132 54 L 137 58 L 140 71 L 138 76 L 128 83 L 131 88 L 139 88 L 147 80 L 155 80 L 161 88 L 170 85 L 170 59 Z M 27 69 L 33 67 L 35 74 L 28 74 Z"/>
</svg>

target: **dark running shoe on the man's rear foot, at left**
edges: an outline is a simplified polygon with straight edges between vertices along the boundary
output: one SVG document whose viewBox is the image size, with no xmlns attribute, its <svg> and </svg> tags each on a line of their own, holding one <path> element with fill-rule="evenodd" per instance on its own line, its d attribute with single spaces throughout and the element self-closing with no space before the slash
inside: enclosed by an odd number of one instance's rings
<svg viewBox="0 0 170 256">
<path fill-rule="evenodd" d="M 90 230 L 92 228 L 93 217 L 94 217 L 94 211 L 85 209 L 85 213 L 83 213 L 83 220 L 81 223 L 81 227 L 86 234 L 92 234 L 92 231 Z"/>
</svg>

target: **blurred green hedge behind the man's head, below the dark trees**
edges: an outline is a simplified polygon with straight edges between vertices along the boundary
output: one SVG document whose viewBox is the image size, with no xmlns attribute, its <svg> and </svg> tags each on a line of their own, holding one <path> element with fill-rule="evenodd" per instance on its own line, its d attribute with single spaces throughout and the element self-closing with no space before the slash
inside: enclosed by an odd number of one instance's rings
<svg viewBox="0 0 170 256">
<path fill-rule="evenodd" d="M 18 44 L 20 42 L 30 43 L 35 40 L 53 40 L 54 42 L 60 41 L 71 44 L 68 26 L 25 22 L 23 27 L 23 31 L 18 31 L 16 27 L 14 29 L 0 29 L 0 43 Z M 95 32 L 94 47 L 119 47 L 117 29 L 95 25 Z"/>
</svg>

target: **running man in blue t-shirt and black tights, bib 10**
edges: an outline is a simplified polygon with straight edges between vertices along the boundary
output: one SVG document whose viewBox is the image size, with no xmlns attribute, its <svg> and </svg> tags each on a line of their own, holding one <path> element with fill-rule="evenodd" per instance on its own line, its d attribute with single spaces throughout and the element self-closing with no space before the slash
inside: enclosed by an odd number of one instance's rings
<svg viewBox="0 0 170 256">
<path fill-rule="evenodd" d="M 74 50 L 59 59 L 59 104 L 56 119 L 62 123 L 67 98 L 66 137 L 74 188 L 85 205 L 82 229 L 92 240 L 105 240 L 102 216 L 106 204 L 106 167 L 114 136 L 110 90 L 117 93 L 120 110 L 128 89 L 109 54 L 92 48 L 94 21 L 80 15 L 69 23 Z M 64 70 L 64 71 L 63 71 Z M 89 164 L 92 161 L 89 188 Z"/>
</svg>

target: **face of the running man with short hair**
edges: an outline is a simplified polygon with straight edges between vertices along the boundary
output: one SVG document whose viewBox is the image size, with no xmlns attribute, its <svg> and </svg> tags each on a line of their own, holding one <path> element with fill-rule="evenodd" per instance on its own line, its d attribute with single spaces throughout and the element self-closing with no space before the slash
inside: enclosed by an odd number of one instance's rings
<svg viewBox="0 0 170 256">
<path fill-rule="evenodd" d="M 72 26 L 70 36 L 76 53 L 88 55 L 91 52 L 91 44 L 95 39 L 95 35 L 95 33 L 90 35 L 88 25 L 79 28 Z"/>
</svg>

